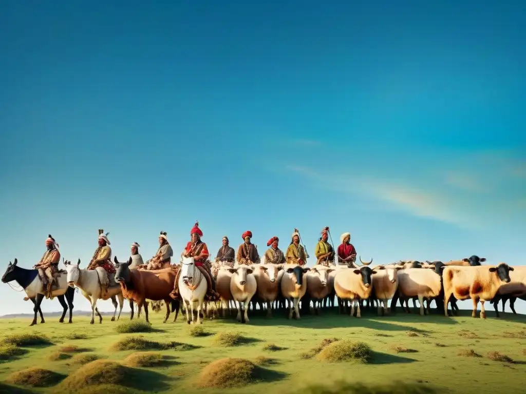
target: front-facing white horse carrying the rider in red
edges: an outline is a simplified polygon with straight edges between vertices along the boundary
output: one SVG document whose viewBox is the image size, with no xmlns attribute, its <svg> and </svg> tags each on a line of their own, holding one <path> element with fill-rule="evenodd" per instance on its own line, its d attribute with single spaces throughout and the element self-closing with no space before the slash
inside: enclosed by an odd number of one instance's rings
<svg viewBox="0 0 526 394">
<path fill-rule="evenodd" d="M 203 273 L 199 271 L 194 263 L 194 257 L 183 257 L 181 260 L 181 273 L 178 281 L 179 294 L 183 298 L 186 310 L 186 322 L 194 324 L 194 310 L 197 303 L 197 320 L 203 324 L 203 304 L 207 291 L 207 281 Z M 192 319 L 190 320 L 190 316 Z"/>
</svg>

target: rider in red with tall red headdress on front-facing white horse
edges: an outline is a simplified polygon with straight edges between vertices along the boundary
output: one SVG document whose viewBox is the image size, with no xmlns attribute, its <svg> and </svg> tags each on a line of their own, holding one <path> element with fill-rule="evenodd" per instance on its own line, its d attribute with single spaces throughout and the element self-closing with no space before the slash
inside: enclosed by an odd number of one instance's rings
<svg viewBox="0 0 526 394">
<path fill-rule="evenodd" d="M 207 293 L 205 299 L 208 301 L 214 301 L 219 299 L 219 294 L 216 293 L 216 283 L 212 279 L 212 272 L 210 271 L 211 263 L 208 260 L 210 253 L 208 252 L 208 246 L 206 243 L 201 241 L 203 231 L 199 229 L 199 222 L 194 224 L 194 227 L 190 230 L 190 241 L 186 244 L 186 247 L 181 253 L 181 257 L 194 257 L 194 264 L 196 268 L 206 277 L 207 281 Z M 179 276 L 181 275 L 181 269 L 178 270 L 174 289 L 170 293 L 170 297 L 173 299 L 180 299 L 179 295 Z"/>
</svg>

